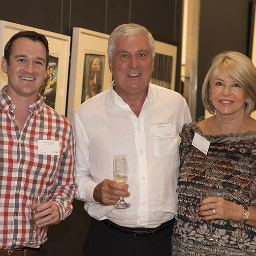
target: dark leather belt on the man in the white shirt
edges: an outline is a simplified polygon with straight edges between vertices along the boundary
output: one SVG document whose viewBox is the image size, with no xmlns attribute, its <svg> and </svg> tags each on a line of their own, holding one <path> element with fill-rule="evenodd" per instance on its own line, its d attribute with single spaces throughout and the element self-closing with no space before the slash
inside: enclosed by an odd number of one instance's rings
<svg viewBox="0 0 256 256">
<path fill-rule="evenodd" d="M 124 226 L 120 226 L 117 225 L 111 221 L 109 221 L 108 219 L 99 221 L 102 224 L 108 226 L 111 229 L 114 229 L 116 231 L 128 234 L 128 235 L 132 235 L 134 237 L 152 237 L 154 235 L 156 235 L 157 233 L 165 230 L 166 228 L 173 226 L 175 223 L 175 218 L 171 219 L 168 222 L 165 222 L 163 224 L 160 224 L 160 226 L 155 227 L 155 228 L 145 228 L 145 231 L 142 231 L 141 229 L 137 229 L 137 228 L 128 228 L 128 227 L 124 227 Z"/>
</svg>

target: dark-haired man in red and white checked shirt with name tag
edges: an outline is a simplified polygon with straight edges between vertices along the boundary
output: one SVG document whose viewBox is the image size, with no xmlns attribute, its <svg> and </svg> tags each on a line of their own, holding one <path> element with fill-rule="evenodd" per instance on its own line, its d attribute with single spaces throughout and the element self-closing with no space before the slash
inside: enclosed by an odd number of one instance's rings
<svg viewBox="0 0 256 256">
<path fill-rule="evenodd" d="M 8 83 L 0 91 L 0 255 L 49 256 L 43 249 L 48 225 L 59 223 L 72 211 L 73 130 L 38 94 L 49 68 L 44 35 L 15 34 L 5 46 L 1 68 Z M 33 193 L 48 198 L 35 216 L 42 218 L 36 221 L 39 249 L 23 246 L 32 234 L 28 204 Z"/>
</svg>

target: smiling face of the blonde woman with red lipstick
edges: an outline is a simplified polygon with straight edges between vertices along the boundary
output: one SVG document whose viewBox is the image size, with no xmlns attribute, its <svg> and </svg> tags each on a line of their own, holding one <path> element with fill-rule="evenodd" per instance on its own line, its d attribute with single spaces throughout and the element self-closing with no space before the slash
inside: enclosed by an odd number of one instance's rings
<svg viewBox="0 0 256 256">
<path fill-rule="evenodd" d="M 237 81 L 219 73 L 210 85 L 210 92 L 216 115 L 230 115 L 232 118 L 245 115 L 248 96 Z"/>
</svg>

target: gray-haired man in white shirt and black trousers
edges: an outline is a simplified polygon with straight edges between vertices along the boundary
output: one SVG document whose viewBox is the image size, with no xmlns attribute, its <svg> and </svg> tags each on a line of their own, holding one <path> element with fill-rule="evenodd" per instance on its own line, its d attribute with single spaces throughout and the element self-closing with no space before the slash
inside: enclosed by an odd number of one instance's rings
<svg viewBox="0 0 256 256">
<path fill-rule="evenodd" d="M 182 96 L 149 83 L 154 57 L 154 38 L 146 28 L 117 27 L 108 43 L 114 81 L 74 113 L 76 197 L 92 216 L 86 256 L 171 254 L 179 131 L 191 116 Z M 115 154 L 128 156 L 126 185 L 114 181 Z M 129 208 L 114 208 L 120 196 Z"/>
</svg>

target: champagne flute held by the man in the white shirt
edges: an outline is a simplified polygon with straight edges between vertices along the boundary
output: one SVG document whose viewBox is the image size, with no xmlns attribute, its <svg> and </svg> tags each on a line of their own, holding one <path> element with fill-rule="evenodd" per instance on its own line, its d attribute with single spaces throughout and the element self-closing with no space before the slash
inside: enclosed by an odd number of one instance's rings
<svg viewBox="0 0 256 256">
<path fill-rule="evenodd" d="M 115 182 L 119 184 L 126 184 L 128 180 L 127 155 L 115 155 L 113 169 Z M 114 207 L 117 209 L 124 209 L 130 207 L 130 204 L 125 202 L 123 196 L 120 196 L 120 200 L 116 204 L 114 204 Z"/>
</svg>

